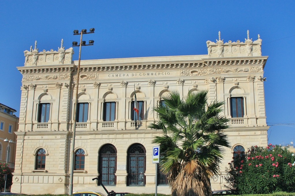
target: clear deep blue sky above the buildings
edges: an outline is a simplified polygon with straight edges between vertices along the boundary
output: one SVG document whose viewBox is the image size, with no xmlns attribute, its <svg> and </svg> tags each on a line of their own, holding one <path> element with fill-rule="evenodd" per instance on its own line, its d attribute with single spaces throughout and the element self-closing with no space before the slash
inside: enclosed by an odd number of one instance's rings
<svg viewBox="0 0 295 196">
<path fill-rule="evenodd" d="M 19 115 L 24 50 L 65 48 L 74 29 L 83 36 L 81 59 L 203 55 L 206 41 L 244 40 L 260 34 L 269 143 L 295 142 L 295 1 L 0 1 L 0 102 Z M 86 37 L 87 36 L 87 37 Z M 84 40 L 84 39 L 83 39 Z M 78 47 L 73 60 L 78 60 Z"/>
</svg>

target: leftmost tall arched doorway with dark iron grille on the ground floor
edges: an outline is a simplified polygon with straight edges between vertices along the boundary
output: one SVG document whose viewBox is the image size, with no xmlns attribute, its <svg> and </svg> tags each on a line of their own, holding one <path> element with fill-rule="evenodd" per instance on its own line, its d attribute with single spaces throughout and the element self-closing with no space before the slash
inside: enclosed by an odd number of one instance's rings
<svg viewBox="0 0 295 196">
<path fill-rule="evenodd" d="M 117 183 L 117 150 L 111 144 L 104 145 L 99 151 L 99 178 L 104 185 Z"/>
</svg>

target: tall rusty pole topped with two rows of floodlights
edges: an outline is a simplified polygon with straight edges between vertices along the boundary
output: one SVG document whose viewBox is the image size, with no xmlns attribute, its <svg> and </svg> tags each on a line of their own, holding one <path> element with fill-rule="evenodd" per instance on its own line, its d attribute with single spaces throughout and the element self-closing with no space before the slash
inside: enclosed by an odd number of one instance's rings
<svg viewBox="0 0 295 196">
<path fill-rule="evenodd" d="M 87 32 L 86 29 L 82 29 L 81 32 L 79 33 L 78 30 L 74 30 L 73 34 L 74 35 L 81 35 L 80 39 L 80 44 L 78 45 L 78 42 L 73 42 L 72 46 L 78 46 L 80 47 L 79 50 L 79 61 L 78 61 L 78 68 L 77 68 L 77 84 L 76 84 L 76 98 L 75 98 L 75 104 L 74 104 L 74 123 L 73 123 L 73 140 L 72 140 L 72 148 L 71 148 L 71 165 L 70 165 L 70 183 L 69 183 L 69 195 L 73 195 L 73 176 L 74 176 L 74 164 L 75 164 L 75 135 L 76 135 L 76 116 L 77 116 L 77 100 L 78 100 L 78 89 L 79 89 L 79 75 L 80 75 L 80 62 L 81 62 L 81 49 L 82 46 L 86 45 L 93 45 L 94 40 L 89 40 L 89 44 L 86 44 L 86 41 L 82 41 L 83 34 L 89 34 L 89 33 L 94 33 L 94 28 L 91 28 Z"/>
</svg>

